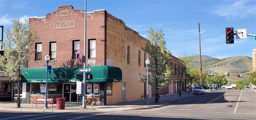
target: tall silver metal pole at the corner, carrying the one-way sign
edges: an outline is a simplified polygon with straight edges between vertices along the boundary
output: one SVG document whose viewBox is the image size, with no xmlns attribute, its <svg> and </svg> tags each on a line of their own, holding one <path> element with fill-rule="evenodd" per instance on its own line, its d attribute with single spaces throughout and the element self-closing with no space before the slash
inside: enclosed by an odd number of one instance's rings
<svg viewBox="0 0 256 120">
<path fill-rule="evenodd" d="M 84 62 L 84 69 L 86 68 L 86 0 L 84 0 L 84 57 L 83 57 L 83 62 Z M 82 100 L 82 106 L 81 108 L 86 108 L 86 95 L 85 95 L 85 87 L 86 87 L 86 72 L 84 72 L 84 77 L 83 77 L 83 100 Z"/>
</svg>

